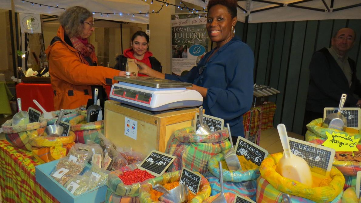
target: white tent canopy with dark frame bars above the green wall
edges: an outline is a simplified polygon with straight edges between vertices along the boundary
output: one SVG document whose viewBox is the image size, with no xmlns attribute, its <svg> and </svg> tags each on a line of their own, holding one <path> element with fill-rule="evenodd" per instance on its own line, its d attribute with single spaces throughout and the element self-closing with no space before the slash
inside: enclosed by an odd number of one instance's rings
<svg viewBox="0 0 361 203">
<path fill-rule="evenodd" d="M 206 7 L 208 0 L 182 0 Z M 238 21 L 249 23 L 361 19 L 360 0 L 238 0 Z"/>
</svg>

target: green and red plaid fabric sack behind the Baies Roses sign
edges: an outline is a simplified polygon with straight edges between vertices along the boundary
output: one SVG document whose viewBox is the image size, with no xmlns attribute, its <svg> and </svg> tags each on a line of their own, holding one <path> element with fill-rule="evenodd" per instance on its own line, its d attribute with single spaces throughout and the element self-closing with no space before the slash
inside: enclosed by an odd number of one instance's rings
<svg viewBox="0 0 361 203">
<path fill-rule="evenodd" d="M 168 168 L 168 171 L 177 171 L 182 168 L 187 168 L 204 175 L 208 172 L 209 159 L 219 152 L 225 151 L 231 147 L 227 130 L 215 131 L 207 138 L 217 141 L 214 143 L 208 143 L 210 140 L 203 138 L 201 139 L 203 141 L 202 143 L 190 142 L 191 137 L 195 137 L 192 127 L 183 128 L 178 131 L 184 133 L 177 133 L 177 137 L 173 138 L 165 152 L 166 154 L 175 156 L 175 160 Z"/>
</svg>

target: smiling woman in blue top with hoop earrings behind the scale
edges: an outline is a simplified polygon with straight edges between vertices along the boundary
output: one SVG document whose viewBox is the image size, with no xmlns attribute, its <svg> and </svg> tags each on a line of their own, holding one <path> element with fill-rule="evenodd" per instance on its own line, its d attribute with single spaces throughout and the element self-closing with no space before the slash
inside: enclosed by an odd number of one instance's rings
<svg viewBox="0 0 361 203">
<path fill-rule="evenodd" d="M 150 77 L 193 83 L 190 89 L 203 96 L 205 114 L 229 123 L 235 141 L 238 136 L 244 137 L 242 115 L 252 105 L 254 57 L 251 48 L 234 36 L 237 1 L 210 0 L 207 8 L 206 29 L 217 47 L 206 53 L 187 75 L 163 74 L 136 63 L 139 72 Z"/>
</svg>

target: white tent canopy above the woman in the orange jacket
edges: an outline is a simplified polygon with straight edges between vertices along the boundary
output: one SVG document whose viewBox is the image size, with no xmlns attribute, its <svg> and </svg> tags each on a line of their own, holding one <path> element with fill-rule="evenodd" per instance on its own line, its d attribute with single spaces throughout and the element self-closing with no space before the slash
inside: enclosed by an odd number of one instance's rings
<svg viewBox="0 0 361 203">
<path fill-rule="evenodd" d="M 103 20 L 123 21 L 149 24 L 149 15 L 139 14 L 149 12 L 149 4 L 142 0 L 13 0 L 15 12 L 37 13 L 59 16 L 64 9 L 82 6 L 95 12 L 94 18 Z M 32 3 L 34 5 L 32 5 Z M 41 6 L 39 6 L 41 5 Z M 47 5 L 47 6 L 45 6 Z M 48 7 L 50 6 L 50 7 Z M 58 7 L 58 8 L 53 8 Z M 11 10 L 11 0 L 0 0 L 0 9 Z M 99 12 L 99 13 L 97 13 Z M 116 13 L 116 14 L 114 14 Z M 119 15 L 122 13 L 122 15 Z M 123 13 L 134 13 L 126 15 Z"/>
</svg>

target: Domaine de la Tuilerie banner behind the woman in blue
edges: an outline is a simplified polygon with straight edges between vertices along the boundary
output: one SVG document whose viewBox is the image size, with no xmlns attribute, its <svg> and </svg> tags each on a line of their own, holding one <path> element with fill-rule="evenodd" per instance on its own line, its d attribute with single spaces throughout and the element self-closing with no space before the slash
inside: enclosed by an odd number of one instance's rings
<svg viewBox="0 0 361 203">
<path fill-rule="evenodd" d="M 171 16 L 172 74 L 187 74 L 209 51 L 206 21 L 207 18 L 198 17 L 194 14 Z"/>
</svg>

